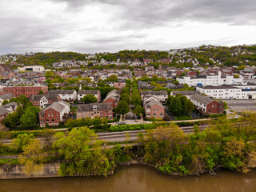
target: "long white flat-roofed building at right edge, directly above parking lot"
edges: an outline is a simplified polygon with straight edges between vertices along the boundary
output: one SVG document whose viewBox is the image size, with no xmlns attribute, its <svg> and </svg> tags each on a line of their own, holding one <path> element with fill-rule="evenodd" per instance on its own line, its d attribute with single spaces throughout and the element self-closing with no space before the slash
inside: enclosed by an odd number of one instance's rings
<svg viewBox="0 0 256 192">
<path fill-rule="evenodd" d="M 219 99 L 256 99 L 256 87 L 251 86 L 198 86 L 201 94 Z"/>
</svg>

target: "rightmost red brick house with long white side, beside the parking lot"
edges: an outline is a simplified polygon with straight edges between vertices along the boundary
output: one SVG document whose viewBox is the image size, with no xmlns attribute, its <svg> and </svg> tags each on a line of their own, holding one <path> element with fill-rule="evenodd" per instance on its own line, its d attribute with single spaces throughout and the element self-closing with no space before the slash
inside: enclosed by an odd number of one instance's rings
<svg viewBox="0 0 256 192">
<path fill-rule="evenodd" d="M 224 110 L 224 103 L 222 101 L 216 101 L 213 98 L 207 97 L 203 94 L 194 94 L 190 98 L 191 102 L 194 104 L 195 110 L 199 114 L 209 115 L 209 114 L 222 114 Z"/>
</svg>

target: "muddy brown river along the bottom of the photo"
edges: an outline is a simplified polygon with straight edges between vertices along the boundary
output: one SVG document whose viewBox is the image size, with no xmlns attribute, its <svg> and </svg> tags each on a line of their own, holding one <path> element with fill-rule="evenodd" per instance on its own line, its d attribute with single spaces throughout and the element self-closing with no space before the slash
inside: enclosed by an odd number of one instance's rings
<svg viewBox="0 0 256 192">
<path fill-rule="evenodd" d="M 170 176 L 146 166 L 122 166 L 107 178 L 34 178 L 0 180 L 1 192 L 255 192 L 256 170 L 248 174 L 218 171 L 218 176 Z"/>
</svg>

